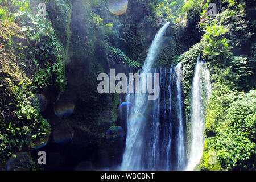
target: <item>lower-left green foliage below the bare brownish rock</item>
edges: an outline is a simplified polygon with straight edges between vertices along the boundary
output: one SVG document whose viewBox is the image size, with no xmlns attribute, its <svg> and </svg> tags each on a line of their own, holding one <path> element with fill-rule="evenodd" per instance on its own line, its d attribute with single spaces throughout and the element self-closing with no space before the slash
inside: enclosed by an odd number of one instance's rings
<svg viewBox="0 0 256 182">
<path fill-rule="evenodd" d="M 5 79 L 5 80 L 3 80 Z M 16 85 L 13 79 L 0 80 L 5 94 L 1 94 L 0 102 L 2 121 L 0 124 L 0 166 L 15 156 L 16 152 L 31 148 L 38 138 L 49 135 L 51 127 L 40 115 L 38 101 L 31 93 L 31 82 L 20 82 Z M 16 112 L 12 108 L 16 108 Z M 2 168 L 2 167 L 1 167 Z M 31 162 L 30 169 L 38 168 Z M 20 168 L 22 169 L 22 168 Z"/>
</svg>

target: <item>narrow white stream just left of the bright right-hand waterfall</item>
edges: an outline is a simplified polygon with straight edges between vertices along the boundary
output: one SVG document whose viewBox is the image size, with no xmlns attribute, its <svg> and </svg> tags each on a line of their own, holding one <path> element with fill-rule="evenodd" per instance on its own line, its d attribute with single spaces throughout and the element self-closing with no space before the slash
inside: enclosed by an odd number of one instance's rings
<svg viewBox="0 0 256 182">
<path fill-rule="evenodd" d="M 183 170 L 185 167 L 185 140 L 184 140 L 184 123 L 183 123 L 183 90 L 182 90 L 182 67 L 181 63 L 177 64 L 175 68 L 176 87 L 177 87 L 177 120 L 178 120 L 178 134 L 177 134 L 177 169 Z"/>
</svg>

